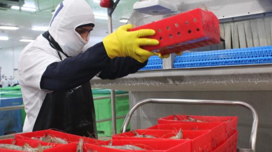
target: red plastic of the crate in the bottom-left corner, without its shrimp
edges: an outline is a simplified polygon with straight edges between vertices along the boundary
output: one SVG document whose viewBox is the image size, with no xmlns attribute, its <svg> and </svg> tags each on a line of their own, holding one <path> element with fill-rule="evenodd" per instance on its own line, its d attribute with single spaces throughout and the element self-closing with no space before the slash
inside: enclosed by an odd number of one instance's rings
<svg viewBox="0 0 272 152">
<path fill-rule="evenodd" d="M 29 144 L 29 146 L 33 148 L 37 148 L 38 144 L 40 143 L 42 146 L 52 146 L 50 149 L 44 150 L 44 152 L 58 152 L 55 151 L 55 148 L 58 146 L 62 146 L 61 144 L 55 144 L 55 143 L 45 143 L 45 142 L 39 142 L 39 141 L 29 141 L 29 140 L 22 140 L 22 139 L 4 139 L 0 140 L 0 144 L 12 144 L 12 142 L 15 140 L 15 145 L 17 146 L 24 146 L 25 143 Z M 7 150 L 7 149 L 0 149 L 0 152 L 23 152 L 23 151 L 16 151 L 16 150 Z"/>
</svg>

